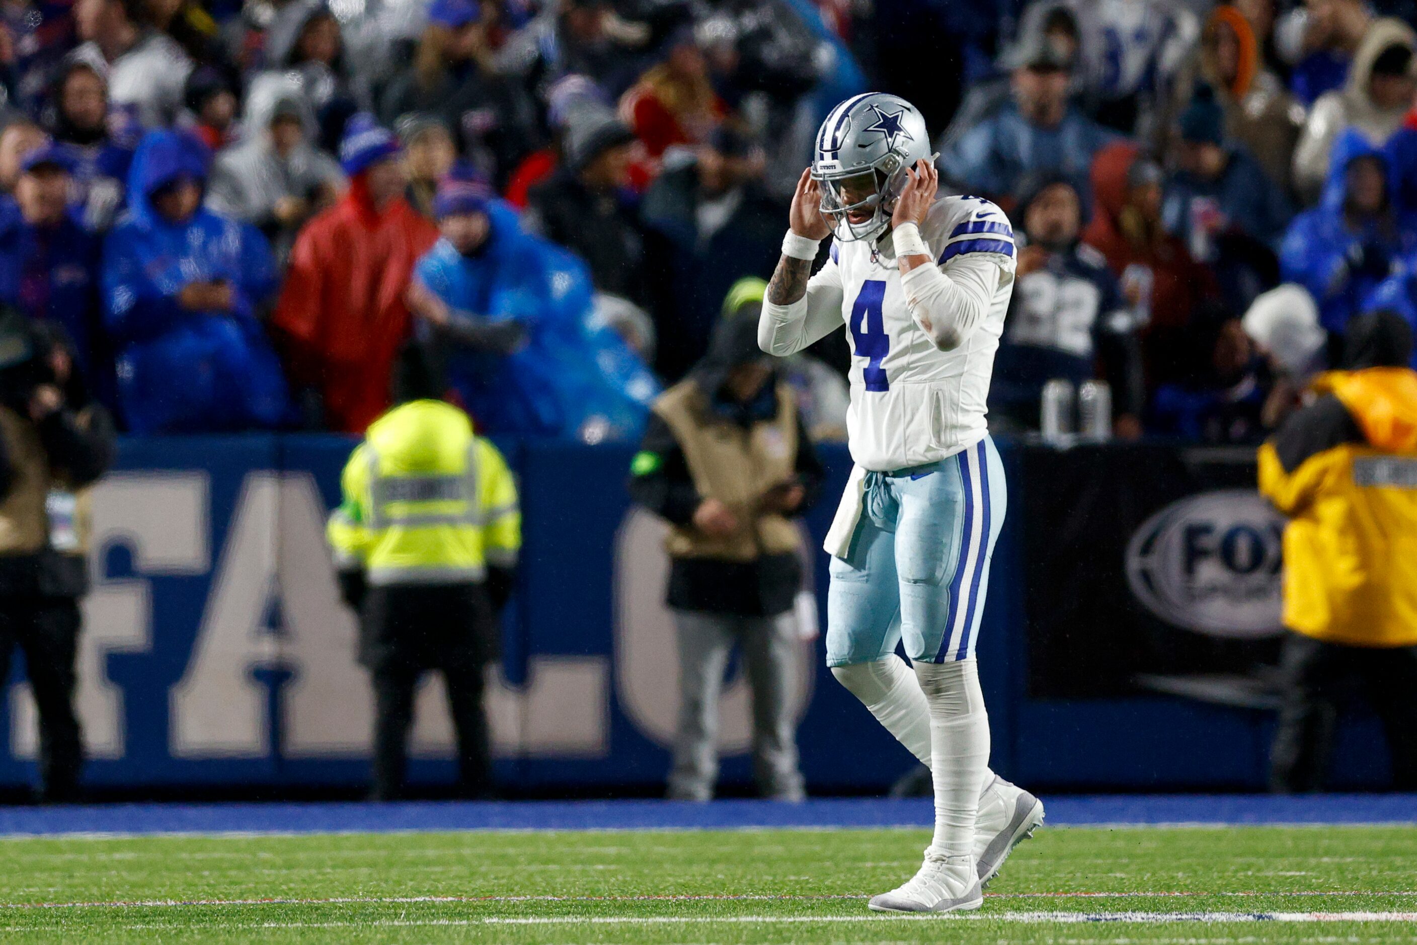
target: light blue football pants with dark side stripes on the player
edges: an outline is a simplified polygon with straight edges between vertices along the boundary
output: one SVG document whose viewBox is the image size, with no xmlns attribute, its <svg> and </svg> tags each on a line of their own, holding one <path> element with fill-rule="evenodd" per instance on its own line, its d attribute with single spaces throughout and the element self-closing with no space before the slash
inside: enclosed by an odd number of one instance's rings
<svg viewBox="0 0 1417 945">
<path fill-rule="evenodd" d="M 989 436 L 928 466 L 867 472 L 847 557 L 832 558 L 828 666 L 884 659 L 903 639 L 911 662 L 972 659 L 1006 506 Z"/>
</svg>

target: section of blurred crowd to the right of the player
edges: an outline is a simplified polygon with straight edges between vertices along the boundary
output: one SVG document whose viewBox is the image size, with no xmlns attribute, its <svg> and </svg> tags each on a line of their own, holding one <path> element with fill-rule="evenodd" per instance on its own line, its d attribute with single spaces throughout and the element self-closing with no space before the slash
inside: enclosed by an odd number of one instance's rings
<svg viewBox="0 0 1417 945">
<path fill-rule="evenodd" d="M 1413 320 L 1411 4 L 1036 0 L 941 135 L 942 177 L 1029 245 L 990 426 L 1101 375 L 1114 431 L 1255 442 Z"/>
</svg>

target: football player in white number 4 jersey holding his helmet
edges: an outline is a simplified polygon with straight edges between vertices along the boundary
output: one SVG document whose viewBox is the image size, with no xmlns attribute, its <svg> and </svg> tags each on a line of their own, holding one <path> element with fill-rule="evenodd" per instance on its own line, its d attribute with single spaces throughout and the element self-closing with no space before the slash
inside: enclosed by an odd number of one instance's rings
<svg viewBox="0 0 1417 945">
<path fill-rule="evenodd" d="M 870 92 L 822 123 L 758 324 L 786 356 L 846 323 L 856 466 L 826 538 L 828 663 L 917 758 L 935 834 L 877 911 L 978 908 L 983 883 L 1043 820 L 988 768 L 973 659 L 1007 493 L 985 424 L 1013 292 L 1013 230 L 979 197 L 937 200 L 925 122 Z M 830 259 L 808 278 L 819 242 Z M 896 655 L 904 643 L 914 669 Z"/>
</svg>

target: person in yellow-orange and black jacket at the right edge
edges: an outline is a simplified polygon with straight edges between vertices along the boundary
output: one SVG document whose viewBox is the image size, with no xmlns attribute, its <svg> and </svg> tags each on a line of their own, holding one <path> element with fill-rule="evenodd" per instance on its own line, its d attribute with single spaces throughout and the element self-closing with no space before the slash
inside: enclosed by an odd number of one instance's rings
<svg viewBox="0 0 1417 945">
<path fill-rule="evenodd" d="M 1284 530 L 1285 691 L 1270 786 L 1323 786 L 1338 706 L 1377 710 L 1393 781 L 1417 789 L 1417 371 L 1391 312 L 1353 319 L 1345 367 L 1260 448 Z"/>
</svg>

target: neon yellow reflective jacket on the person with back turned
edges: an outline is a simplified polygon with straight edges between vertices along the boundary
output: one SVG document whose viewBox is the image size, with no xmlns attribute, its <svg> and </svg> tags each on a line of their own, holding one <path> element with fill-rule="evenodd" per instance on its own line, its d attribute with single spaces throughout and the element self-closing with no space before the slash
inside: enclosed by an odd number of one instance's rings
<svg viewBox="0 0 1417 945">
<path fill-rule="evenodd" d="M 516 483 L 465 412 L 412 401 L 373 424 L 344 466 L 327 536 L 371 585 L 482 581 L 521 548 Z"/>
</svg>

